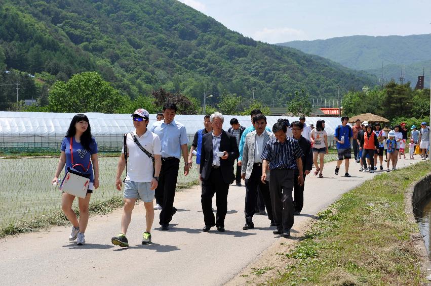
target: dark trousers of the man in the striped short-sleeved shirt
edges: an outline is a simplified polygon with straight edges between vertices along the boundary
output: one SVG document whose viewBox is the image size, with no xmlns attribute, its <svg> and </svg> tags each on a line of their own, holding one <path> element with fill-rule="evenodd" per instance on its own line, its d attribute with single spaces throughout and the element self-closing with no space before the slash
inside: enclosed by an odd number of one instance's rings
<svg viewBox="0 0 431 286">
<path fill-rule="evenodd" d="M 271 195 L 274 222 L 279 229 L 291 229 L 295 209 L 292 198 L 293 170 L 271 170 L 269 178 L 269 194 Z"/>
</svg>

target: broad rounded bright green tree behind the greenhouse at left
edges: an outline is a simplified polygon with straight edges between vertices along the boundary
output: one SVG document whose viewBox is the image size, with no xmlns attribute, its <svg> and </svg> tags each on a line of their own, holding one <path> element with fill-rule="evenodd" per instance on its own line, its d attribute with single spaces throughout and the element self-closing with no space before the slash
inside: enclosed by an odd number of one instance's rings
<svg viewBox="0 0 431 286">
<path fill-rule="evenodd" d="M 73 75 L 67 82 L 55 82 L 48 101 L 52 112 L 114 113 L 124 98 L 97 72 L 84 72 Z"/>
</svg>

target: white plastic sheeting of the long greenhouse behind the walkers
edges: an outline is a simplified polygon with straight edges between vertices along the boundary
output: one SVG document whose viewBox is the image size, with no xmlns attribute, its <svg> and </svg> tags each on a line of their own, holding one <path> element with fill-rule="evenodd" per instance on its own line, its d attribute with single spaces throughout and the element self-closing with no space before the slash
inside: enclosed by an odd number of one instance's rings
<svg viewBox="0 0 431 286">
<path fill-rule="evenodd" d="M 61 140 L 66 134 L 74 113 L 45 113 L 45 112 L 9 112 L 0 111 L 0 136 L 4 141 L 19 142 L 29 136 L 51 137 Z M 121 136 L 125 132 L 133 130 L 131 114 L 104 114 L 85 113 L 90 120 L 91 132 L 96 138 L 99 136 Z M 150 123 L 156 121 L 156 115 L 150 115 Z M 184 124 L 189 138 L 196 131 L 203 128 L 203 115 L 176 115 L 175 120 Z M 237 118 L 242 126 L 252 125 L 250 116 L 224 116 L 223 129 L 230 127 L 231 118 Z M 267 116 L 268 127 L 277 122 L 279 118 L 288 118 L 290 122 L 299 120 L 299 117 Z M 328 135 L 333 135 L 335 128 L 341 124 L 339 117 L 306 117 L 307 124 L 314 124 L 319 119 L 325 120 L 325 130 Z M 57 137 L 53 138 L 53 137 Z M 109 137 L 108 137 L 109 138 Z M 48 139 L 48 138 L 46 138 Z"/>
</svg>

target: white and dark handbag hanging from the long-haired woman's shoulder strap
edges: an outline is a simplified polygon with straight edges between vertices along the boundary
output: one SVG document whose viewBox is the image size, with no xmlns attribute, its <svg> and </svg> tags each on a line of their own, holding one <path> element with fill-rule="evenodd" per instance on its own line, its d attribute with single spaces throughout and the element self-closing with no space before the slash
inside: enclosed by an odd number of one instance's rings
<svg viewBox="0 0 431 286">
<path fill-rule="evenodd" d="M 67 167 L 66 174 L 60 184 L 60 190 L 72 196 L 76 196 L 84 199 L 87 196 L 88 186 L 90 184 L 90 175 L 87 174 L 90 168 L 90 162 L 88 162 L 87 169 L 82 164 L 73 163 L 73 147 L 72 137 L 70 137 L 70 157 L 72 161 L 72 167 Z M 80 172 L 76 167 L 80 166 L 85 172 Z"/>
</svg>

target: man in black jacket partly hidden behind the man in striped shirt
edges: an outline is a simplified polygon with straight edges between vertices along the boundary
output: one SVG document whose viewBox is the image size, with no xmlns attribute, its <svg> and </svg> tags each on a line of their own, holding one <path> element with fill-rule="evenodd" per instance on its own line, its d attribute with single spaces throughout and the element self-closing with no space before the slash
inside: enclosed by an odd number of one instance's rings
<svg viewBox="0 0 431 286">
<path fill-rule="evenodd" d="M 290 125 L 292 127 L 293 138 L 298 141 L 299 147 L 302 150 L 303 156 L 302 159 L 302 168 L 304 173 L 302 174 L 304 177 L 308 175 L 311 171 L 311 167 L 313 165 L 313 154 L 311 149 L 311 142 L 307 138 L 304 138 L 301 133 L 304 130 L 304 125 L 300 121 L 294 121 Z M 293 199 L 293 205 L 295 206 L 294 215 L 300 215 L 302 207 L 304 206 L 304 184 L 300 185 L 298 182 L 299 170 L 296 168 L 294 171 L 295 184 L 293 187 L 293 194 L 295 195 Z"/>
</svg>

